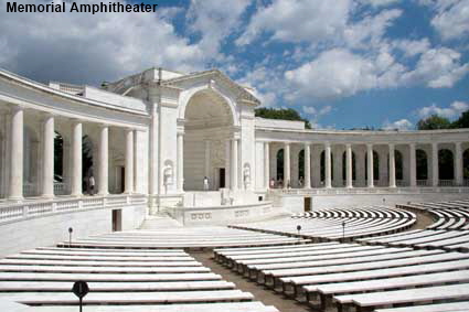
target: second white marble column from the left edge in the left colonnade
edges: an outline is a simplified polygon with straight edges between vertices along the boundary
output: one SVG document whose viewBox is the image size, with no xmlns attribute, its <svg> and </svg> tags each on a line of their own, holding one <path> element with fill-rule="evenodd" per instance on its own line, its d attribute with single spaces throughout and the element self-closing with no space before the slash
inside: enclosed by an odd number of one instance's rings
<svg viewBox="0 0 469 312">
<path fill-rule="evenodd" d="M 42 123 L 41 197 L 54 197 L 54 117 L 46 115 Z"/>
</svg>

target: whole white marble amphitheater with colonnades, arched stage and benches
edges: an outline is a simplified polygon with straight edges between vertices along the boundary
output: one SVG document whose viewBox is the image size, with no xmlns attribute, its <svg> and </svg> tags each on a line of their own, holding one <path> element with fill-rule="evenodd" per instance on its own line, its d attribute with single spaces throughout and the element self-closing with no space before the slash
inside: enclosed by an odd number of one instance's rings
<svg viewBox="0 0 469 312">
<path fill-rule="evenodd" d="M 469 311 L 469 129 L 311 130 L 260 104 L 217 69 L 0 69 L 0 310 L 76 311 L 84 280 L 85 311 L 294 311 L 220 269 L 295 311 Z"/>
</svg>

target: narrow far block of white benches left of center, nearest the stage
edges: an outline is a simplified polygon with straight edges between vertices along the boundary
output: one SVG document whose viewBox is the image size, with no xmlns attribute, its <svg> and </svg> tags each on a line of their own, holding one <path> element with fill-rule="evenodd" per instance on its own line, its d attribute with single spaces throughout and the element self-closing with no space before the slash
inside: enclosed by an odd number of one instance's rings
<svg viewBox="0 0 469 312">
<path fill-rule="evenodd" d="M 81 248 L 205 249 L 233 246 L 298 244 L 302 240 L 300 239 L 299 241 L 298 238 L 294 237 L 246 232 L 223 226 L 206 226 L 116 232 L 74 239 L 72 246 Z M 68 247 L 70 241 L 64 241 L 60 246 Z"/>
</svg>

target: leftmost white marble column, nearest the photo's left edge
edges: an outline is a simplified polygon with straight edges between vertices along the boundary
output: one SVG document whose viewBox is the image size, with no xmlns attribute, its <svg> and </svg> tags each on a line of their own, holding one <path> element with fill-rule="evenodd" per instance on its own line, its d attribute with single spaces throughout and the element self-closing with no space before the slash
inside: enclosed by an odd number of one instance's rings
<svg viewBox="0 0 469 312">
<path fill-rule="evenodd" d="M 10 181 L 8 197 L 13 201 L 23 198 L 23 119 L 24 110 L 15 106 L 11 110 L 10 141 Z"/>
</svg>

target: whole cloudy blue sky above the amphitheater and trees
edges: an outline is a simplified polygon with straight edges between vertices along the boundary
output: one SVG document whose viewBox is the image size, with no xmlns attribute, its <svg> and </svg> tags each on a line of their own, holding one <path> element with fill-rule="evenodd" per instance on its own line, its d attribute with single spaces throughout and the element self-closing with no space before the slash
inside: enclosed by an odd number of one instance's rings
<svg viewBox="0 0 469 312">
<path fill-rule="evenodd" d="M 2 1 L 0 67 L 90 85 L 217 67 L 317 128 L 414 129 L 469 109 L 469 0 L 145 2 L 158 12 L 12 14 Z"/>
</svg>

